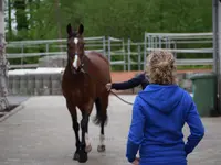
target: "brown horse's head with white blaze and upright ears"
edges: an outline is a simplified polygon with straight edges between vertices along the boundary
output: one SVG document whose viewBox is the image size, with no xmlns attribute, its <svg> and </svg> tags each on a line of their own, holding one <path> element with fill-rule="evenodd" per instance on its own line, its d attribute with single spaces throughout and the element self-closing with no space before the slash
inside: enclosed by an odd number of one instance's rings
<svg viewBox="0 0 221 165">
<path fill-rule="evenodd" d="M 66 26 L 67 32 L 67 64 L 73 74 L 81 72 L 84 58 L 84 26 L 80 24 L 77 31 L 73 31 L 71 23 Z"/>
</svg>

